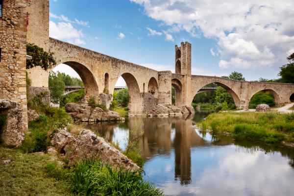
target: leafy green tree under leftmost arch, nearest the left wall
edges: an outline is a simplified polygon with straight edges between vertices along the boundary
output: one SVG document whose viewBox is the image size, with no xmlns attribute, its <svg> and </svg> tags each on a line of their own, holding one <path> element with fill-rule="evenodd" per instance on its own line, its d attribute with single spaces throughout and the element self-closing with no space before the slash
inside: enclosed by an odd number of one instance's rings
<svg viewBox="0 0 294 196">
<path fill-rule="evenodd" d="M 62 73 L 49 73 L 49 90 L 52 103 L 59 103 L 65 89 Z"/>
</svg>

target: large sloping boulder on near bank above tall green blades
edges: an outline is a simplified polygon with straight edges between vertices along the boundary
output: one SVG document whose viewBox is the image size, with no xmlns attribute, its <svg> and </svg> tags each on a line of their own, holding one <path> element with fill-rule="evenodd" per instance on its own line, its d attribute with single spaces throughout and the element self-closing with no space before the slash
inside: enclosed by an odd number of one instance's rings
<svg viewBox="0 0 294 196">
<path fill-rule="evenodd" d="M 77 160 L 86 156 L 95 157 L 117 168 L 133 171 L 140 169 L 121 151 L 87 129 L 81 130 L 76 138 L 67 130 L 61 130 L 53 136 L 51 143 L 59 152 L 65 154 L 69 159 L 69 165 L 75 164 Z"/>
</svg>

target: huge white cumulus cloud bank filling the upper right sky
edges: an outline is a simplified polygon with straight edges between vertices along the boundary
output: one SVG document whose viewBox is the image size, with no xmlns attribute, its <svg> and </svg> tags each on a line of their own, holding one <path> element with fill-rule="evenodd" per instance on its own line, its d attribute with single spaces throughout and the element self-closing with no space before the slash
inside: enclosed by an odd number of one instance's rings
<svg viewBox="0 0 294 196">
<path fill-rule="evenodd" d="M 212 51 L 220 55 L 221 68 L 279 67 L 294 50 L 293 0 L 130 1 L 169 26 L 170 33 L 185 30 L 216 39 L 218 52 Z"/>
</svg>

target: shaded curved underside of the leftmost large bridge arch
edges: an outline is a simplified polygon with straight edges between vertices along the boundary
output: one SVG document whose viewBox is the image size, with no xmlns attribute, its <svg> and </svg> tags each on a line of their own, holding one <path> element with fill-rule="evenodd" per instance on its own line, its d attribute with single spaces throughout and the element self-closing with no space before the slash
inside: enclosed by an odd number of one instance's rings
<svg viewBox="0 0 294 196">
<path fill-rule="evenodd" d="M 98 99 L 99 98 L 98 84 L 92 72 L 86 66 L 78 62 L 68 61 L 68 62 L 64 62 L 64 64 L 73 68 L 73 70 L 82 79 L 85 86 L 85 91 L 86 91 L 85 99 L 87 100 L 90 97 L 95 97 Z"/>
</svg>

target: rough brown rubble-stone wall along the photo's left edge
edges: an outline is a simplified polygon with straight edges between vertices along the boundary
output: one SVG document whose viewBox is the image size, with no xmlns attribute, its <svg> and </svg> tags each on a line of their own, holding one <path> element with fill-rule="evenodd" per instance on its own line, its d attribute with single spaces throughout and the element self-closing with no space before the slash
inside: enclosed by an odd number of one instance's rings
<svg viewBox="0 0 294 196">
<path fill-rule="evenodd" d="M 26 7 L 30 0 L 4 0 L 0 18 L 0 98 L 21 104 L 27 128 L 25 65 Z"/>
</svg>

